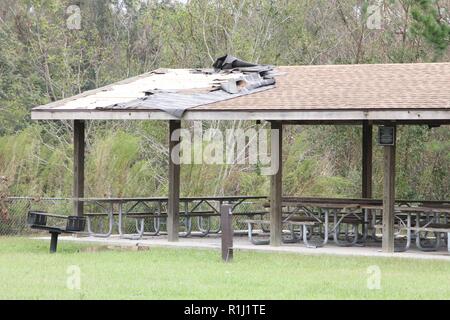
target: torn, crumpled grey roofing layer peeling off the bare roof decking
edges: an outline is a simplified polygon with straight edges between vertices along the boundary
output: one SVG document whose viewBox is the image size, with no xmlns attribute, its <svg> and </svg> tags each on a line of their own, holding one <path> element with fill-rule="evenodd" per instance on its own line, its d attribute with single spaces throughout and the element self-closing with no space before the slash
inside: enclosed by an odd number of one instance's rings
<svg viewBox="0 0 450 320">
<path fill-rule="evenodd" d="M 191 70 L 192 75 L 214 78 L 202 88 L 186 86 L 184 89 L 161 90 L 157 87 L 145 90 L 145 97 L 113 105 L 96 107 L 97 110 L 147 110 L 158 109 L 181 118 L 190 108 L 229 100 L 274 88 L 275 73 L 272 66 L 251 64 L 226 55 L 213 64 L 210 70 Z M 167 71 L 170 73 L 171 71 Z M 159 74 L 167 74 L 159 71 Z M 173 81 L 179 81 L 174 77 Z"/>
</svg>

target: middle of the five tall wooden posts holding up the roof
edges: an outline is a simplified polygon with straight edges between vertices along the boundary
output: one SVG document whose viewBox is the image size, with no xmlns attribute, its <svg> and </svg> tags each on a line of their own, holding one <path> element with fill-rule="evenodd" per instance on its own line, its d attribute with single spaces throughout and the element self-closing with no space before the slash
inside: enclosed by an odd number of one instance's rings
<svg viewBox="0 0 450 320">
<path fill-rule="evenodd" d="M 277 169 L 271 176 L 270 181 L 270 245 L 280 246 L 282 236 L 282 140 L 283 125 L 281 121 L 272 121 L 272 143 L 271 156 L 272 166 Z"/>
</svg>

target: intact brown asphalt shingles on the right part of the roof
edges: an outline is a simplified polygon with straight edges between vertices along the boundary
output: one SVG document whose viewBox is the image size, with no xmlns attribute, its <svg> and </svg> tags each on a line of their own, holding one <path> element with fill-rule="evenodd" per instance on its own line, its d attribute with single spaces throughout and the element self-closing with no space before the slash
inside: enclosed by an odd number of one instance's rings
<svg viewBox="0 0 450 320">
<path fill-rule="evenodd" d="M 200 110 L 450 109 L 450 63 L 278 67 L 276 88 Z"/>
</svg>

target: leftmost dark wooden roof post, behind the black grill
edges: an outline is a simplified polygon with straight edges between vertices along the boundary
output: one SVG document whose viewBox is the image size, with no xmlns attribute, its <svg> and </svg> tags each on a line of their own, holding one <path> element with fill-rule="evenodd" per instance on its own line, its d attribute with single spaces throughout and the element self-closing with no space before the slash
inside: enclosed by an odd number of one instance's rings
<svg viewBox="0 0 450 320">
<path fill-rule="evenodd" d="M 84 121 L 73 122 L 73 191 L 72 197 L 73 214 L 81 217 L 83 215 L 83 202 L 79 198 L 84 197 Z"/>
</svg>

